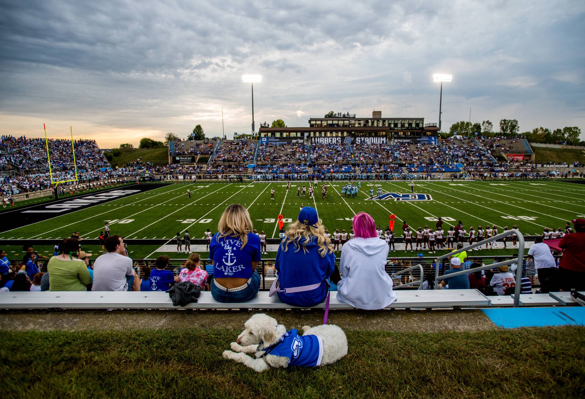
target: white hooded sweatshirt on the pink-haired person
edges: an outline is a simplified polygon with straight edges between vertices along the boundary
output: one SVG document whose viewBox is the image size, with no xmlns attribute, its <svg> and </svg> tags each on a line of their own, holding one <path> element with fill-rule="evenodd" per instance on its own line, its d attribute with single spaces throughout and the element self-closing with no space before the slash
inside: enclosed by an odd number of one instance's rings
<svg viewBox="0 0 585 399">
<path fill-rule="evenodd" d="M 388 244 L 380 238 L 354 238 L 343 245 L 337 299 L 353 307 L 383 309 L 396 300 L 386 273 Z"/>
</svg>

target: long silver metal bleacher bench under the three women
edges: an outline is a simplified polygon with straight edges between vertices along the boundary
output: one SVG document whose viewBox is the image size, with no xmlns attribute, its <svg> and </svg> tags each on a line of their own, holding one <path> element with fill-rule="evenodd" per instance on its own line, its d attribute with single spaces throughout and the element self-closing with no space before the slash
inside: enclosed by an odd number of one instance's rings
<svg viewBox="0 0 585 399">
<path fill-rule="evenodd" d="M 488 307 L 490 300 L 478 290 L 412 290 L 397 291 L 398 299 L 388 308 L 452 308 Z M 261 291 L 246 303 L 219 303 L 211 293 L 202 292 L 197 303 L 189 309 L 287 309 L 276 295 Z M 324 308 L 325 301 L 315 306 Z M 164 292 L 6 292 L 0 293 L 0 309 L 173 309 Z M 180 307 L 177 307 L 180 308 Z M 332 292 L 331 309 L 351 309 L 338 301 Z"/>
</svg>

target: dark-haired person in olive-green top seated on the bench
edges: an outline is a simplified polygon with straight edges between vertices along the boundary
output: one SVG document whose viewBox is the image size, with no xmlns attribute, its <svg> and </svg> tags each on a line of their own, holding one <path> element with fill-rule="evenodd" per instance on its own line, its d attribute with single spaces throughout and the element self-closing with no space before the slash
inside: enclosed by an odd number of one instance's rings
<svg viewBox="0 0 585 399">
<path fill-rule="evenodd" d="M 78 259 L 79 243 L 75 238 L 66 238 L 59 244 L 59 255 L 49 259 L 50 291 L 87 291 L 91 282 L 85 263 Z"/>
</svg>

